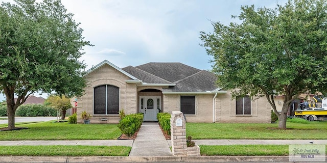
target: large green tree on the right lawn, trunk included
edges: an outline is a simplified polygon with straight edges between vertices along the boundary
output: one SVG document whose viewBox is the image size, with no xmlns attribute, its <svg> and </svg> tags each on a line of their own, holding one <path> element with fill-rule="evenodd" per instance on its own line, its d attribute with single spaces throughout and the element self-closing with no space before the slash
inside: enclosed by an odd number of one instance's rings
<svg viewBox="0 0 327 163">
<path fill-rule="evenodd" d="M 213 22 L 214 32 L 201 32 L 213 56 L 218 85 L 233 97 L 267 97 L 286 128 L 289 104 L 303 93 L 327 91 L 327 5 L 325 0 L 294 0 L 275 9 L 242 6 L 240 23 Z M 275 95 L 284 95 L 282 112 Z"/>
</svg>

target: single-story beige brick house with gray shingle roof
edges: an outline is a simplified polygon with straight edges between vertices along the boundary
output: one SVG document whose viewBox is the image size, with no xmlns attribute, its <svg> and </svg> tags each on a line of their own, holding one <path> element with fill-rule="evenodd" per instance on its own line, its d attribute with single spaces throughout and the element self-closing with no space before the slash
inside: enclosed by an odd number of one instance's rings
<svg viewBox="0 0 327 163">
<path fill-rule="evenodd" d="M 103 61 L 86 71 L 81 112 L 91 123 L 118 123 L 119 111 L 144 113 L 145 121 L 157 121 L 158 112 L 181 111 L 187 122 L 270 123 L 266 98 L 231 98 L 231 92 L 215 86 L 215 74 L 181 63 L 148 63 L 119 68 Z"/>
</svg>

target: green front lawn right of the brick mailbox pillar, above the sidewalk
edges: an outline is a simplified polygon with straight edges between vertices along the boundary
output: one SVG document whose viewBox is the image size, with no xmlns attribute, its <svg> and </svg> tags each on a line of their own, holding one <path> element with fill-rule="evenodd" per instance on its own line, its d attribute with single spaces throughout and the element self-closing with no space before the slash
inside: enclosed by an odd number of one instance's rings
<svg viewBox="0 0 327 163">
<path fill-rule="evenodd" d="M 186 136 L 192 139 L 326 139 L 327 122 L 308 124 L 287 122 L 288 129 L 277 123 L 186 123 Z"/>
</svg>

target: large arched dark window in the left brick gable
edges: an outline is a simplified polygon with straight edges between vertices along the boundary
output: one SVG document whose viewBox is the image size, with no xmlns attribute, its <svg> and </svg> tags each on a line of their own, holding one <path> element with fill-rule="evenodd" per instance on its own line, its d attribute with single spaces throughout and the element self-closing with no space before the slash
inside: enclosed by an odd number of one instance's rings
<svg viewBox="0 0 327 163">
<path fill-rule="evenodd" d="M 94 88 L 94 114 L 119 114 L 119 88 L 102 85 Z"/>
</svg>

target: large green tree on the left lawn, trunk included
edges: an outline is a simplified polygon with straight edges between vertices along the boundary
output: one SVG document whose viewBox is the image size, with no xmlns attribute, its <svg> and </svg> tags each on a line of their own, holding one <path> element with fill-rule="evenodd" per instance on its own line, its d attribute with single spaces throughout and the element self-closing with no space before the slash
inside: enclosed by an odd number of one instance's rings
<svg viewBox="0 0 327 163">
<path fill-rule="evenodd" d="M 34 92 L 82 95 L 85 65 L 78 59 L 90 45 L 82 31 L 60 0 L 1 4 L 0 92 L 7 98 L 9 129 L 15 128 L 17 107 Z"/>
</svg>

